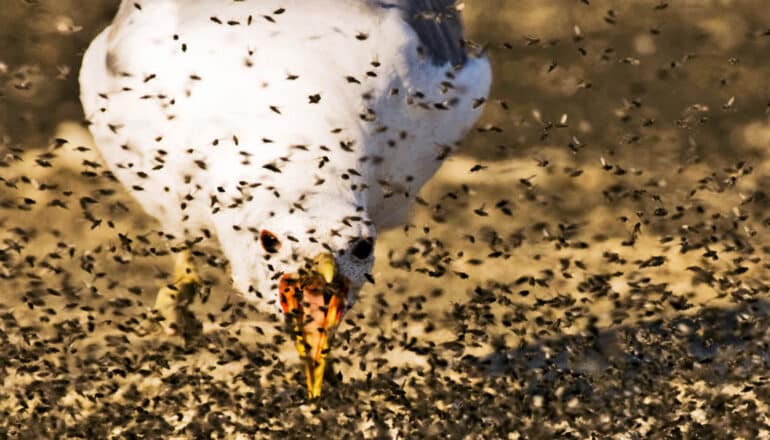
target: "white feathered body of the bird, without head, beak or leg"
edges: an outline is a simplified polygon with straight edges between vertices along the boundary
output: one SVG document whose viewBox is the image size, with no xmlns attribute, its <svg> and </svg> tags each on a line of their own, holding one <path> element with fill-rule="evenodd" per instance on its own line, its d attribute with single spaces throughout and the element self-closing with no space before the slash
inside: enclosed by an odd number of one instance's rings
<svg viewBox="0 0 770 440">
<path fill-rule="evenodd" d="M 227 254 L 234 225 L 298 205 L 363 207 L 375 229 L 406 220 L 490 85 L 485 58 L 453 70 L 419 44 L 398 10 L 366 1 L 124 1 L 85 55 L 81 98 L 144 209 Z"/>
</svg>

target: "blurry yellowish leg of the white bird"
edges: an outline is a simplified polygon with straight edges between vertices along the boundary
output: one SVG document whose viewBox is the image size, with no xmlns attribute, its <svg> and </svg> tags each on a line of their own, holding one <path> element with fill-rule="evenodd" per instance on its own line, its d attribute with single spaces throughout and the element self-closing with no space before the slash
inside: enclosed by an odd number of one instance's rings
<svg viewBox="0 0 770 440">
<path fill-rule="evenodd" d="M 183 327 L 187 306 L 192 303 L 201 284 L 192 254 L 184 250 L 174 255 L 174 282 L 163 286 L 155 297 L 155 311 L 163 318 L 160 325 L 168 335 Z"/>
</svg>

